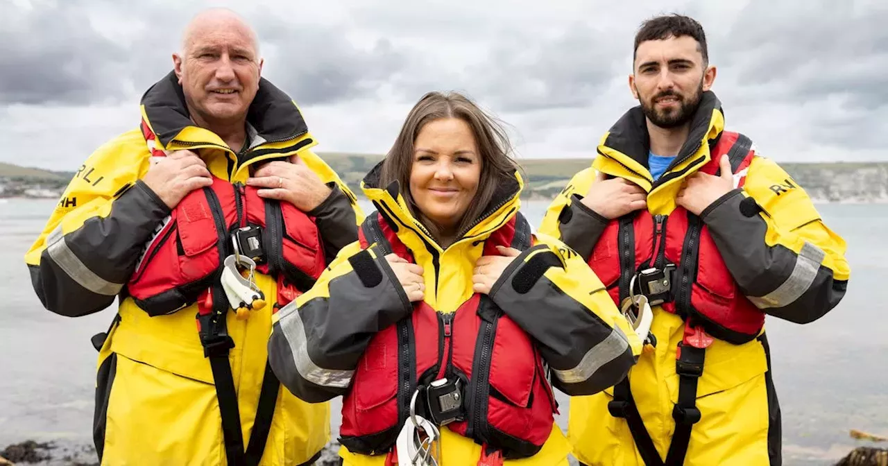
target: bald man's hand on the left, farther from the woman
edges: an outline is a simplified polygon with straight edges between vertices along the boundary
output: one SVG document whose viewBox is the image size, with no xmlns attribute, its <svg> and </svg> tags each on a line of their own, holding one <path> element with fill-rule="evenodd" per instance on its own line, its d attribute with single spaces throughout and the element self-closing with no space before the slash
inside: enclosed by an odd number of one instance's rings
<svg viewBox="0 0 888 466">
<path fill-rule="evenodd" d="M 197 154 L 183 150 L 153 159 L 142 183 L 151 188 L 167 207 L 175 209 L 188 193 L 212 185 L 213 178 L 207 164 Z"/>
</svg>

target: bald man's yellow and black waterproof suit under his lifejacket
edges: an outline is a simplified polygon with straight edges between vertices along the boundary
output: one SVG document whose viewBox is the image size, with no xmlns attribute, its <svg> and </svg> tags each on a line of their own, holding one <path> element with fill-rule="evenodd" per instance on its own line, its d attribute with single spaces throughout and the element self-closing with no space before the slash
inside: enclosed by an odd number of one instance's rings
<svg viewBox="0 0 888 466">
<path fill-rule="evenodd" d="M 329 257 L 357 238 L 362 214 L 353 194 L 311 152 L 316 142 L 282 91 L 261 81 L 248 118 L 249 147 L 240 154 L 194 126 L 181 96 L 170 73 L 142 100 L 157 150 L 193 150 L 213 176 L 233 183 L 244 182 L 259 162 L 298 154 L 334 188 L 312 212 Z M 217 391 L 195 326 L 197 306 L 149 317 L 123 286 L 155 228 L 170 214 L 140 180 L 151 154 L 139 129 L 99 147 L 67 186 L 25 260 L 37 296 L 52 312 L 70 317 L 99 312 L 119 296 L 114 324 L 104 340 L 94 340 L 100 350 L 94 433 L 101 464 L 226 464 Z M 255 278 L 269 305 L 248 320 L 235 319 L 234 312 L 226 319 L 234 341 L 228 361 L 243 446 L 250 443 L 256 419 L 278 296 L 273 277 L 257 273 Z M 303 464 L 328 441 L 329 406 L 305 403 L 279 387 L 264 453 L 261 446 L 254 453 L 261 454 L 262 465 Z"/>
</svg>

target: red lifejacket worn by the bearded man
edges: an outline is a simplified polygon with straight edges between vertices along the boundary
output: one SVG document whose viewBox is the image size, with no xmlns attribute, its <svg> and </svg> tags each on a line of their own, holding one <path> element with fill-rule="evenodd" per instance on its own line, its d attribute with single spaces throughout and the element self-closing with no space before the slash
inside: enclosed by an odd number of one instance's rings
<svg viewBox="0 0 888 466">
<path fill-rule="evenodd" d="M 718 160 L 728 154 L 735 185 L 741 187 L 753 157 L 750 146 L 749 138 L 723 131 L 711 150 L 712 160 L 699 170 L 716 174 Z M 675 265 L 662 308 L 733 344 L 751 341 L 765 323 L 765 314 L 733 280 L 709 227 L 682 207 L 668 216 L 651 216 L 643 209 L 611 220 L 592 249 L 589 265 L 618 306 L 630 295 L 632 277 L 638 272 Z M 638 284 L 637 280 L 636 293 Z"/>
</svg>

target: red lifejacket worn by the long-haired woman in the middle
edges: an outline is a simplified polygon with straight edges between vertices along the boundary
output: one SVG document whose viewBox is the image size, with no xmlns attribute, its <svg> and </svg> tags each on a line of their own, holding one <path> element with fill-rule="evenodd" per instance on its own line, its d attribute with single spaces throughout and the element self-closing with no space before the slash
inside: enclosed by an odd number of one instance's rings
<svg viewBox="0 0 888 466">
<path fill-rule="evenodd" d="M 377 242 L 414 262 L 380 214 L 367 218 L 361 246 Z M 530 247 L 520 214 L 496 230 L 496 245 Z M 471 286 L 471 284 L 467 284 Z M 487 295 L 474 294 L 456 312 L 436 312 L 420 302 L 408 318 L 370 340 L 342 407 L 340 442 L 353 453 L 391 453 L 417 387 L 456 377 L 463 387 L 464 418 L 447 424 L 464 437 L 501 452 L 503 458 L 536 454 L 549 438 L 557 404 L 533 341 Z"/>
</svg>

